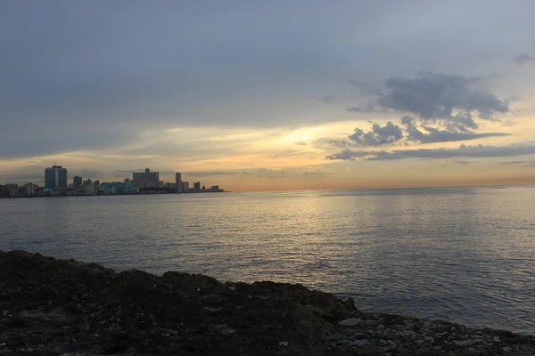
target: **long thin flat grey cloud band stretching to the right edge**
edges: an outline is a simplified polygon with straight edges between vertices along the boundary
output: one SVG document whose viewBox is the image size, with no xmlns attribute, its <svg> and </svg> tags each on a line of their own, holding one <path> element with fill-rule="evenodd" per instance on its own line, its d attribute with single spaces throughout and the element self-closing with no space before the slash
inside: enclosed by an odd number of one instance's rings
<svg viewBox="0 0 535 356">
<path fill-rule="evenodd" d="M 490 158 L 490 157 L 514 157 L 535 154 L 535 146 L 511 145 L 511 146 L 466 146 L 461 145 L 457 149 L 419 149 L 419 150 L 342 150 L 331 156 L 328 160 L 355 160 L 361 158 L 370 161 L 399 160 L 410 158 Z"/>
</svg>

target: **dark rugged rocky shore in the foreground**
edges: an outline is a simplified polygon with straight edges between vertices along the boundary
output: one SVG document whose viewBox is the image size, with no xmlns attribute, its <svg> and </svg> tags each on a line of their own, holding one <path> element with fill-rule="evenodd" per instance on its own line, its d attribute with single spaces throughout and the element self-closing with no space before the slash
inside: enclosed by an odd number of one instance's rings
<svg viewBox="0 0 535 356">
<path fill-rule="evenodd" d="M 535 355 L 535 336 L 360 312 L 273 282 L 0 251 L 0 355 Z"/>
</svg>

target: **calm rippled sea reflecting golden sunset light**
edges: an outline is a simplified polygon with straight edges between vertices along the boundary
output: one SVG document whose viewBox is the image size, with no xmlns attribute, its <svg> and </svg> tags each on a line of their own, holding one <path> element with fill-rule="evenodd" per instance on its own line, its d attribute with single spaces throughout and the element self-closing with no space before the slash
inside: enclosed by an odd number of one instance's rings
<svg viewBox="0 0 535 356">
<path fill-rule="evenodd" d="M 0 249 L 535 335 L 535 187 L 2 199 Z"/>
</svg>

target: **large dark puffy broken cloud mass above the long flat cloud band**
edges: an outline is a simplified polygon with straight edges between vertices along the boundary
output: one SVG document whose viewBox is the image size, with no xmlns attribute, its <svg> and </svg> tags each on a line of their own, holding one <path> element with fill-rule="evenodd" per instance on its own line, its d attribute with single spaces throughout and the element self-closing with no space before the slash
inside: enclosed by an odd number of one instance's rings
<svg viewBox="0 0 535 356">
<path fill-rule="evenodd" d="M 405 112 L 414 117 L 400 118 L 401 125 L 389 122 L 374 124 L 372 131 L 355 128 L 349 136 L 362 147 L 373 147 L 405 140 L 406 142 L 458 142 L 486 137 L 506 136 L 503 133 L 475 133 L 480 128 L 477 118 L 497 121 L 497 114 L 510 112 L 509 100 L 492 93 L 475 90 L 473 85 L 482 77 L 459 77 L 432 72 L 420 72 L 417 77 L 389 77 L 384 81 L 384 93 L 367 82 L 348 79 L 366 93 L 374 93 L 376 101 L 353 108 L 353 112 Z"/>
</svg>

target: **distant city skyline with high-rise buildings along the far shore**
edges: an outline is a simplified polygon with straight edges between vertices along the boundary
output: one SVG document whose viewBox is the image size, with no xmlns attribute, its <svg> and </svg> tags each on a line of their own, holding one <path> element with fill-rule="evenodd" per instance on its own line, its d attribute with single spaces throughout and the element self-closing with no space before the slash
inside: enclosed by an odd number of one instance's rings
<svg viewBox="0 0 535 356">
<path fill-rule="evenodd" d="M 201 186 L 201 182 L 182 181 L 182 174 L 175 173 L 175 182 L 160 180 L 160 172 L 132 172 L 132 178 L 122 182 L 93 181 L 90 177 L 75 175 L 72 182 L 68 181 L 67 168 L 52 166 L 45 169 L 45 186 L 35 183 L 0 185 L 0 198 L 23 197 L 60 197 L 60 196 L 95 196 L 95 195 L 130 195 L 130 194 L 179 194 L 179 193 L 215 193 L 224 192 L 218 185 L 210 188 Z"/>
</svg>

